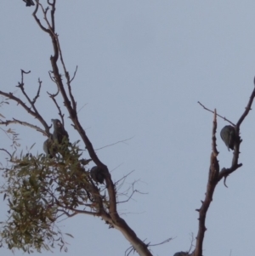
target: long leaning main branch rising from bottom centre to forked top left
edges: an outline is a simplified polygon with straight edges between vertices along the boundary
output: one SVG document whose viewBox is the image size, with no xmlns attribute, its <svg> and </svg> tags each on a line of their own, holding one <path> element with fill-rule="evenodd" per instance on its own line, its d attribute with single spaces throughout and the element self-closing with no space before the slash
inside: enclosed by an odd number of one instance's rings
<svg viewBox="0 0 255 256">
<path fill-rule="evenodd" d="M 39 3 L 39 1 L 37 1 L 37 5 L 40 5 L 42 8 L 42 5 Z M 109 213 L 102 212 L 101 217 L 105 219 L 106 222 L 110 223 L 113 227 L 115 227 L 117 230 L 120 230 L 122 234 L 127 238 L 127 241 L 129 241 L 133 245 L 133 247 L 139 253 L 139 255 L 144 255 L 144 256 L 152 255 L 150 253 L 150 250 L 148 249 L 148 245 L 146 245 L 143 241 L 141 241 L 139 237 L 136 236 L 134 231 L 127 225 L 125 220 L 119 216 L 116 208 L 116 189 L 112 182 L 111 174 L 107 166 L 99 160 L 99 157 L 96 155 L 94 151 L 94 147 L 92 143 L 88 139 L 88 136 L 85 133 L 85 130 L 82 128 L 82 125 L 79 122 L 79 119 L 77 117 L 77 103 L 74 100 L 74 97 L 71 92 L 72 79 L 70 79 L 69 72 L 65 68 L 65 61 L 61 52 L 59 37 L 56 34 L 55 27 L 54 27 L 55 1 L 53 1 L 53 3 L 50 4 L 50 8 L 51 8 L 51 22 L 48 21 L 47 10 L 42 8 L 42 14 L 43 14 L 44 20 L 46 20 L 46 24 L 48 26 L 47 28 L 42 26 L 41 21 L 37 17 L 38 9 L 35 10 L 35 12 L 33 13 L 33 16 L 37 21 L 38 26 L 42 28 L 42 31 L 45 31 L 46 33 L 48 33 L 48 36 L 51 38 L 51 42 L 54 48 L 54 54 L 50 57 L 50 61 L 52 65 L 54 81 L 56 82 L 59 88 L 59 92 L 63 97 L 65 108 L 67 109 L 70 115 L 69 117 L 71 118 L 71 121 L 73 122 L 77 132 L 80 134 L 85 144 L 85 147 L 88 150 L 89 156 L 99 168 L 104 170 L 106 188 L 109 195 L 110 205 L 109 205 Z M 62 65 L 61 68 L 65 72 L 65 80 L 67 84 L 68 94 L 65 91 L 63 80 L 59 73 L 59 64 L 58 64 L 59 57 L 60 57 L 60 63 Z"/>
</svg>

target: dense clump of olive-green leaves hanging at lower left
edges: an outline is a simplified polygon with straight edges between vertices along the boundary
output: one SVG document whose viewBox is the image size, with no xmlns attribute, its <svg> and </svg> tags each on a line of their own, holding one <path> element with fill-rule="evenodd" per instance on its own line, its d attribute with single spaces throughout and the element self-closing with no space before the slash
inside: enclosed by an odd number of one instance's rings
<svg viewBox="0 0 255 256">
<path fill-rule="evenodd" d="M 77 144 L 68 149 L 63 146 L 63 150 L 65 153 L 59 149 L 62 154 L 54 158 L 44 154 L 13 156 L 12 167 L 5 168 L 6 183 L 0 192 L 9 209 L 8 220 L 1 223 L 1 236 L 10 249 L 28 253 L 55 245 L 62 249 L 65 241 L 57 219 L 76 214 L 78 209 L 96 212 L 93 198 L 100 196 L 99 189 L 79 161 Z"/>
</svg>

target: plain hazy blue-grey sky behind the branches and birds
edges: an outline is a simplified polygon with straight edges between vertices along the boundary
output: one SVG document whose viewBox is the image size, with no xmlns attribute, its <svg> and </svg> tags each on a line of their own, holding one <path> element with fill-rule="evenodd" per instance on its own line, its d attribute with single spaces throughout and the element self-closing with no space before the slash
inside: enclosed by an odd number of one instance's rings
<svg viewBox="0 0 255 256">
<path fill-rule="evenodd" d="M 33 20 L 33 9 L 21 0 L 0 2 L 0 88 L 22 97 L 15 87 L 20 69 L 31 71 L 26 91 L 34 97 L 38 78 L 42 80 L 37 108 L 50 124 L 58 118 L 47 94 L 56 92 L 48 77 L 53 49 Z M 254 9 L 251 0 L 57 3 L 56 31 L 67 69 L 73 73 L 78 65 L 72 92 L 88 138 L 95 149 L 132 138 L 97 151 L 113 181 L 133 172 L 123 190 L 137 181 L 136 189 L 144 193 L 120 204 L 119 213 L 145 242 L 174 238 L 151 247 L 153 255 L 186 251 L 191 234 L 197 233 L 195 209 L 205 196 L 212 151 L 212 113 L 197 101 L 231 122 L 241 117 L 254 86 Z M 58 100 L 61 105 L 63 100 Z M 4 105 L 0 111 L 8 119 L 40 125 L 19 105 Z M 251 111 L 241 125 L 243 167 L 229 176 L 228 188 L 220 181 L 214 193 L 203 255 L 254 252 L 254 116 Z M 228 168 L 233 156 L 219 136 L 227 124 L 218 118 L 220 168 Z M 36 143 L 32 152 L 42 152 L 42 134 L 18 125 L 11 128 L 20 134 L 20 150 Z M 66 112 L 65 129 L 71 141 L 79 139 Z M 0 134 L 1 147 L 10 149 L 11 141 Z M 0 162 L 5 163 L 5 157 L 0 151 Z M 0 219 L 6 218 L 4 205 L 2 201 Z M 56 247 L 54 255 L 124 255 L 130 247 L 118 230 L 108 229 L 99 218 L 76 216 L 58 225 L 74 239 L 66 237 L 68 253 Z M 13 255 L 6 247 L 1 252 Z"/>
</svg>

